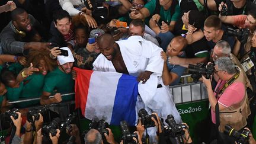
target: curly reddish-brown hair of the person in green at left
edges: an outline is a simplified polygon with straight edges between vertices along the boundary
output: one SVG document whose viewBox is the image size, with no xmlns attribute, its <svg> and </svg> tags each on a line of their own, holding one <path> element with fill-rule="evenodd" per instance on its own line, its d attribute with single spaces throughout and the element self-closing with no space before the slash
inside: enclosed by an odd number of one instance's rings
<svg viewBox="0 0 256 144">
<path fill-rule="evenodd" d="M 57 66 L 57 62 L 50 58 L 49 53 L 49 50 L 30 50 L 26 57 L 27 63 L 25 64 L 25 67 L 29 67 L 30 63 L 32 63 L 34 68 L 38 68 L 40 60 L 43 59 L 44 62 L 46 62 L 49 71 L 53 71 Z"/>
</svg>

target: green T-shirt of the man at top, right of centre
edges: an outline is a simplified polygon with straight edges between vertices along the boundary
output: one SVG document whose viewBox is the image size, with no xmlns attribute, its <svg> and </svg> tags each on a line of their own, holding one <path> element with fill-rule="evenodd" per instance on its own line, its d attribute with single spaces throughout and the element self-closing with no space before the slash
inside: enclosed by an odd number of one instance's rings
<svg viewBox="0 0 256 144">
<path fill-rule="evenodd" d="M 180 6 L 177 4 L 175 7 L 174 15 L 171 15 L 171 7 L 165 11 L 163 7 L 160 9 L 160 21 L 166 21 L 168 24 L 171 23 L 171 21 L 178 21 L 178 18 L 180 18 L 181 11 Z"/>
</svg>

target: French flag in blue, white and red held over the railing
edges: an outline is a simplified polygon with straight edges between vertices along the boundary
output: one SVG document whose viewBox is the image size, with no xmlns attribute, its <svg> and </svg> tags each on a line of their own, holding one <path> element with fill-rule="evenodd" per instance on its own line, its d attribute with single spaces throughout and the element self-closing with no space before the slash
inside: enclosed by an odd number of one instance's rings
<svg viewBox="0 0 256 144">
<path fill-rule="evenodd" d="M 138 82 L 135 76 L 117 72 L 98 72 L 73 68 L 76 71 L 75 104 L 90 120 L 104 119 L 119 125 L 126 120 L 136 123 Z"/>
</svg>

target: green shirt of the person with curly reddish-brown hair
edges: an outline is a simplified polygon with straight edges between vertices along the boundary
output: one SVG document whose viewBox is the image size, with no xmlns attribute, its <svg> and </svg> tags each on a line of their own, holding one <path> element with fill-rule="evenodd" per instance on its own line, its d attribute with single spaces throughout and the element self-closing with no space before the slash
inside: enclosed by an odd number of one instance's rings
<svg viewBox="0 0 256 144">
<path fill-rule="evenodd" d="M 36 98 L 41 97 L 44 86 L 44 75 L 36 74 L 28 76 L 23 81 L 23 91 L 21 92 L 20 98 Z M 39 104 L 39 100 L 28 101 L 25 103 L 17 104 L 19 107 L 29 107 L 31 105 Z"/>
</svg>

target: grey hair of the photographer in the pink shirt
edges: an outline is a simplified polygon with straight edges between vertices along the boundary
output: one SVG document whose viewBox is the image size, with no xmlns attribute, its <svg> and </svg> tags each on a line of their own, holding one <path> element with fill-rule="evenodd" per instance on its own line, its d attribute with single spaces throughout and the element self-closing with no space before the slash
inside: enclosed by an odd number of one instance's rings
<svg viewBox="0 0 256 144">
<path fill-rule="evenodd" d="M 226 71 L 230 75 L 236 73 L 235 64 L 229 57 L 220 57 L 215 61 L 215 65 L 218 66 L 219 71 Z"/>
</svg>

